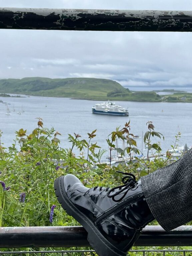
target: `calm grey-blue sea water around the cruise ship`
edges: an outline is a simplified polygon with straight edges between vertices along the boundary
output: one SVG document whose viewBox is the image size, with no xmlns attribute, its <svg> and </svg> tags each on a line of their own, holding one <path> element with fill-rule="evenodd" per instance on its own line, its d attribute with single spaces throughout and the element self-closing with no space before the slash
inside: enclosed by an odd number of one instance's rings
<svg viewBox="0 0 192 256">
<path fill-rule="evenodd" d="M 95 103 L 103 101 L 73 100 L 69 98 L 56 97 L 0 97 L 6 104 L 0 103 L 0 130 L 3 132 L 1 142 L 9 147 L 15 138 L 15 131 L 20 128 L 27 129 L 27 134 L 32 133 L 37 127 L 38 120 L 43 119 L 43 126 L 54 127 L 62 134 L 59 136 L 63 148 L 71 147 L 68 142 L 68 134 L 78 133 L 81 138 L 88 139 L 87 133 L 97 129 L 96 137 L 92 142 L 97 142 L 103 149 L 108 150 L 106 139 L 117 127 L 123 128 L 130 120 L 130 132 L 139 135 L 137 146 L 145 155 L 147 150 L 142 143 L 142 134 L 148 130 L 146 123 L 152 121 L 155 131 L 160 132 L 165 140 L 151 138 L 152 142 L 161 141 L 163 152 L 170 149 L 175 142 L 175 135 L 181 132 L 178 144 L 187 143 L 192 146 L 192 103 L 166 103 L 166 102 L 125 102 L 117 101 L 118 105 L 128 109 L 129 116 L 110 116 L 92 114 L 92 107 Z M 11 115 L 6 115 L 7 107 Z M 15 110 L 15 111 L 13 111 Z M 22 112 L 24 111 L 24 112 Z M 21 114 L 19 114 L 21 113 Z M 122 143 L 118 142 L 118 147 Z"/>
</svg>

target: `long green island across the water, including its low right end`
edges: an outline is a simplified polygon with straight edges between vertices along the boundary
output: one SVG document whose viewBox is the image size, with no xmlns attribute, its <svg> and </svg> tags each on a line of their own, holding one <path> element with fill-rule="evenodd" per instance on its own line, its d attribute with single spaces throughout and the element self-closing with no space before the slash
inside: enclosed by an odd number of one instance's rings
<svg viewBox="0 0 192 256">
<path fill-rule="evenodd" d="M 2 94 L 13 93 L 102 101 L 192 102 L 192 93 L 166 89 L 162 91 L 172 92 L 172 94 L 159 95 L 156 93 L 157 91 L 130 91 L 115 81 L 98 78 L 27 77 L 0 80 L 0 93 Z"/>
</svg>

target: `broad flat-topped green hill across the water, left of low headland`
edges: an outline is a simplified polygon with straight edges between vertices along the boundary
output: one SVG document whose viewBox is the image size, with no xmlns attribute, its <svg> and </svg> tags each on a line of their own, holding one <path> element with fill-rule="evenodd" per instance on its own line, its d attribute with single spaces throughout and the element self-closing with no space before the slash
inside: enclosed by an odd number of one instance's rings
<svg viewBox="0 0 192 256">
<path fill-rule="evenodd" d="M 0 80 L 0 93 L 18 93 L 38 96 L 100 99 L 108 93 L 127 93 L 119 83 L 96 78 L 50 79 L 32 77 Z"/>
</svg>

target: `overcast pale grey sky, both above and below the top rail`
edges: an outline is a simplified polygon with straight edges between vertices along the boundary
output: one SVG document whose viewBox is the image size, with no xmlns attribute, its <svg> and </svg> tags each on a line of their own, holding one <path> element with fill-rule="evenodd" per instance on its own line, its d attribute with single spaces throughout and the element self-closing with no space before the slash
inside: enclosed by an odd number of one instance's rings
<svg viewBox="0 0 192 256">
<path fill-rule="evenodd" d="M 191 0 L 0 0 L 0 7 L 192 10 Z M 192 33 L 0 29 L 0 79 L 93 77 L 192 86 Z"/>
</svg>

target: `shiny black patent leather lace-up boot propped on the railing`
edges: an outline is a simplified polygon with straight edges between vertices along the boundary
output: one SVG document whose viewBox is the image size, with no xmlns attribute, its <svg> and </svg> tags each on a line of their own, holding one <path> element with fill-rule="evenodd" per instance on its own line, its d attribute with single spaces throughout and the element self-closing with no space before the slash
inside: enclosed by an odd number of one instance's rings
<svg viewBox="0 0 192 256">
<path fill-rule="evenodd" d="M 154 220 L 141 181 L 126 174 L 124 185 L 112 189 L 89 189 L 72 174 L 54 183 L 59 203 L 86 229 L 87 239 L 99 256 L 125 256 L 142 228 Z"/>
</svg>

